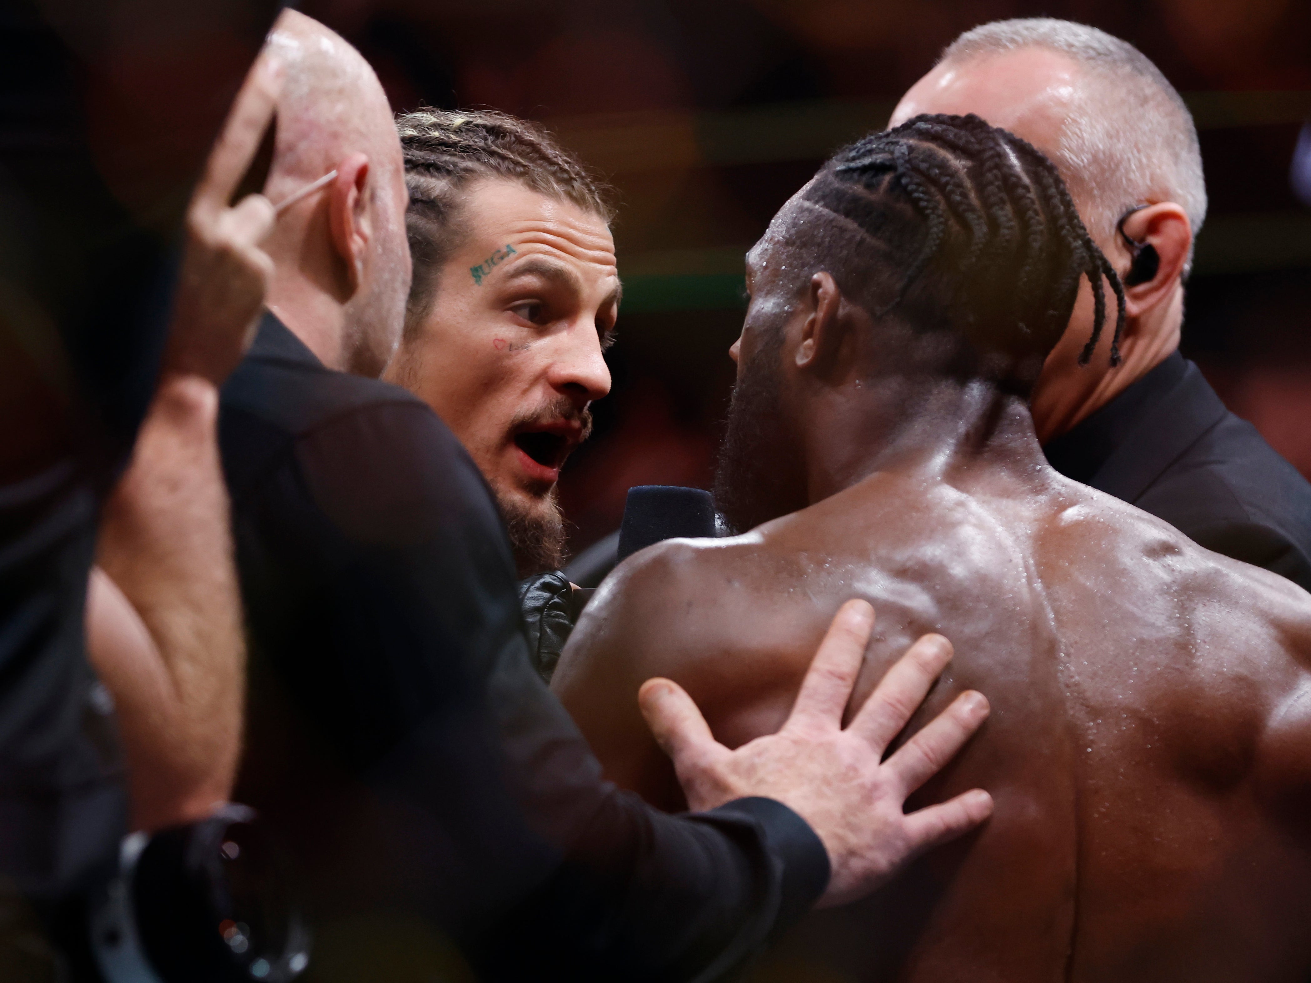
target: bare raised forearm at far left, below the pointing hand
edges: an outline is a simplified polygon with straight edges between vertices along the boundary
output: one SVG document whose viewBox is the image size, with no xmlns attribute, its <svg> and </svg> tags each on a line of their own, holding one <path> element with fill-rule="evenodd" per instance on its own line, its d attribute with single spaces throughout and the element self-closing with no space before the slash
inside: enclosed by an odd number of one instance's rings
<svg viewBox="0 0 1311 983">
<path fill-rule="evenodd" d="M 118 705 L 139 828 L 205 814 L 236 772 L 245 649 L 216 414 L 211 383 L 165 376 L 101 522 L 97 560 L 127 604 L 98 591 L 117 615 L 90 609 L 90 647 Z M 97 624 L 115 621 L 117 644 L 97 641 Z"/>
</svg>

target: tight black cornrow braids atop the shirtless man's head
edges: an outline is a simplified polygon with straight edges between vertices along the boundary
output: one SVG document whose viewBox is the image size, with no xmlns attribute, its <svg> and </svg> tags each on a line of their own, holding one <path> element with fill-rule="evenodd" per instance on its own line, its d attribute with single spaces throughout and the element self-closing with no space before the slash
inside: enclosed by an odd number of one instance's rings
<svg viewBox="0 0 1311 983">
<path fill-rule="evenodd" d="M 874 199 L 897 194 L 910 199 L 927 229 L 880 313 L 905 303 L 937 263 L 949 270 L 965 307 L 982 298 L 996 301 L 1000 313 L 988 324 L 1000 337 L 979 341 L 1045 355 L 1065 332 L 1079 280 L 1087 277 L 1093 326 L 1079 355 L 1087 364 L 1106 320 L 1105 278 L 1117 304 L 1110 363 L 1120 364 L 1124 287 L 1084 228 L 1055 165 L 1038 149 L 973 114 L 915 117 L 839 151 L 805 198 L 882 240 L 890 235 L 888 219 Z M 880 218 L 872 218 L 876 212 Z M 943 290 L 936 291 L 939 299 Z"/>
</svg>

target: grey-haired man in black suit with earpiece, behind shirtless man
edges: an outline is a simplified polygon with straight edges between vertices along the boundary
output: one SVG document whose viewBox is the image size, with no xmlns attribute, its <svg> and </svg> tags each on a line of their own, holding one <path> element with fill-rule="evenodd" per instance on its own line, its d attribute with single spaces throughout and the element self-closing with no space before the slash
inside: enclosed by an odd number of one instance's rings
<svg viewBox="0 0 1311 983">
<path fill-rule="evenodd" d="M 1084 349 L 1086 288 L 1034 389 L 1051 465 L 1311 590 L 1311 485 L 1179 354 L 1206 187 L 1173 87 L 1095 28 L 998 21 L 957 38 L 891 123 L 919 113 L 977 113 L 1047 153 L 1124 280 L 1122 332 Z"/>
</svg>

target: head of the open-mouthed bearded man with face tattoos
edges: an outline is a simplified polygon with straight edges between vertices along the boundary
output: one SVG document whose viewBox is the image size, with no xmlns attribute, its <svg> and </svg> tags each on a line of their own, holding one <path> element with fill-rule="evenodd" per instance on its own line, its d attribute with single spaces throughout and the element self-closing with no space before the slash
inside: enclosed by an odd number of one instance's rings
<svg viewBox="0 0 1311 983">
<path fill-rule="evenodd" d="M 492 110 L 397 118 L 414 279 L 388 379 L 455 431 L 520 577 L 564 562 L 556 481 L 610 392 L 620 283 L 602 187 L 541 128 Z M 458 371 L 452 371 L 458 366 Z"/>
</svg>

